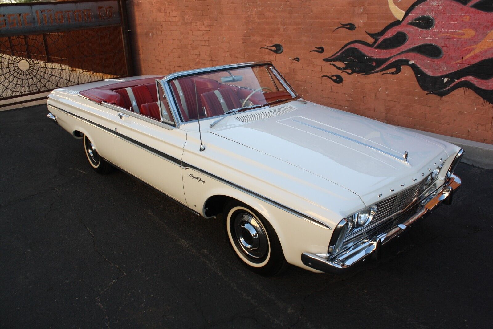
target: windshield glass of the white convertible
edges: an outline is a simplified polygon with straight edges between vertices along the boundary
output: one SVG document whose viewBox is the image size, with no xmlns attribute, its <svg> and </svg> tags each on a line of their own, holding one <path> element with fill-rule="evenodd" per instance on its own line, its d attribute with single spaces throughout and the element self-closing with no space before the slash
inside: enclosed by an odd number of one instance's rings
<svg viewBox="0 0 493 329">
<path fill-rule="evenodd" d="M 270 65 L 248 66 L 177 78 L 170 87 L 186 122 L 298 97 L 278 74 Z"/>
</svg>

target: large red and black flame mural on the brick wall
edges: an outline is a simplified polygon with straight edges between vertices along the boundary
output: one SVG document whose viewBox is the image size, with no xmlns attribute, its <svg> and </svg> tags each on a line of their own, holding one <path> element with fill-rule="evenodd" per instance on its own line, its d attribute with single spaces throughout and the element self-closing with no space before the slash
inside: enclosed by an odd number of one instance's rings
<svg viewBox="0 0 493 329">
<path fill-rule="evenodd" d="M 409 66 L 429 94 L 469 88 L 493 103 L 493 0 L 418 0 L 405 12 L 388 2 L 397 21 L 368 33 L 373 43 L 351 41 L 323 60 L 347 74 Z"/>
</svg>

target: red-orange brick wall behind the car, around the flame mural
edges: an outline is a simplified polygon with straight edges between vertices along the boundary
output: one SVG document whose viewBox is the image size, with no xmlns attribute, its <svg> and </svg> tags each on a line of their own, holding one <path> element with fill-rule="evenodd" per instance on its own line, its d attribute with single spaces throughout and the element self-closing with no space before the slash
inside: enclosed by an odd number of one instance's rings
<svg viewBox="0 0 493 329">
<path fill-rule="evenodd" d="M 413 0 L 394 2 L 405 10 Z M 493 106 L 472 90 L 438 97 L 419 86 L 409 66 L 396 75 L 348 75 L 322 61 L 350 41 L 371 43 L 366 32 L 380 32 L 395 21 L 385 0 L 127 0 L 126 5 L 136 74 L 270 60 L 306 99 L 403 127 L 493 144 Z M 340 22 L 352 22 L 356 29 L 334 31 Z M 408 40 L 416 42 L 421 41 Z M 274 43 L 283 45 L 282 54 L 260 49 Z M 324 53 L 310 52 L 315 46 L 323 46 Z M 428 65 L 442 75 L 436 61 Z M 343 83 L 321 77 L 333 74 L 341 75 Z"/>
</svg>

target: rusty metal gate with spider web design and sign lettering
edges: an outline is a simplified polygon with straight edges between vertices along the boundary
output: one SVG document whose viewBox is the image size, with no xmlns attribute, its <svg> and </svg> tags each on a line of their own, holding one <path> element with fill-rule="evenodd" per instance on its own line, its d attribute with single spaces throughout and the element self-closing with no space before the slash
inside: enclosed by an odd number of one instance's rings
<svg viewBox="0 0 493 329">
<path fill-rule="evenodd" d="M 122 0 L 0 5 L 0 100 L 132 75 Z"/>
</svg>

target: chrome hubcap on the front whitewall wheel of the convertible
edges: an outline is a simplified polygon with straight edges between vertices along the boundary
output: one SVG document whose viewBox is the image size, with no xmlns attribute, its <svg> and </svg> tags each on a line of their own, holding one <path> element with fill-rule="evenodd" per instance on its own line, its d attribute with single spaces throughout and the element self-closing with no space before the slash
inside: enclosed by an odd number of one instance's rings
<svg viewBox="0 0 493 329">
<path fill-rule="evenodd" d="M 245 212 L 237 214 L 233 227 L 236 244 L 246 256 L 258 260 L 267 255 L 267 234 L 253 216 Z"/>
</svg>

